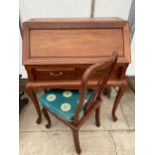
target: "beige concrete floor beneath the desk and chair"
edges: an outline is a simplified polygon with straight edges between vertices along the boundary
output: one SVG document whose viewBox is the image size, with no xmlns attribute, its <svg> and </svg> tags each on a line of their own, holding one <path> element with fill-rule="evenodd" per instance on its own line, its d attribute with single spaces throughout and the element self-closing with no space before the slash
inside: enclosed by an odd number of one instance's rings
<svg viewBox="0 0 155 155">
<path fill-rule="evenodd" d="M 115 95 L 113 90 L 110 99 L 104 97 L 99 128 L 94 117 L 81 128 L 82 155 L 134 155 L 134 94 L 126 91 L 117 110 L 118 121 L 113 122 L 110 112 Z M 35 109 L 29 102 L 20 115 L 20 155 L 76 155 L 68 127 L 52 116 L 50 129 L 45 128 L 45 119 L 40 125 L 35 120 Z"/>
</svg>

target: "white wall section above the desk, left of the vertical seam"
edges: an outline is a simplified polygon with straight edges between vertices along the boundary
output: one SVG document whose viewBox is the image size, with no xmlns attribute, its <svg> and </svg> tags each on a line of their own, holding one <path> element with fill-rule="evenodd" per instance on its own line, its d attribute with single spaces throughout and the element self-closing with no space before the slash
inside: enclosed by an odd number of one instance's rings
<svg viewBox="0 0 155 155">
<path fill-rule="evenodd" d="M 90 17 L 91 0 L 20 0 L 22 21 L 29 18 Z"/>
</svg>

